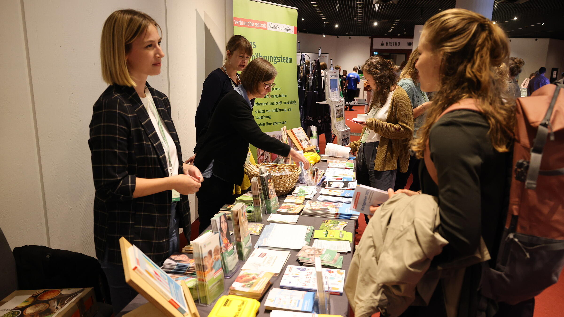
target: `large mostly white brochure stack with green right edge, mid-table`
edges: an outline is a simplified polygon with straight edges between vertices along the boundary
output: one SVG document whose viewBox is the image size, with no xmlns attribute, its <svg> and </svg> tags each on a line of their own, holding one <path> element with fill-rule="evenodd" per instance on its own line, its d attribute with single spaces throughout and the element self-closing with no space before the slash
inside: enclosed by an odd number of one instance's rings
<svg viewBox="0 0 564 317">
<path fill-rule="evenodd" d="M 297 251 L 309 245 L 314 227 L 272 223 L 265 226 L 255 248 Z"/>
</svg>

